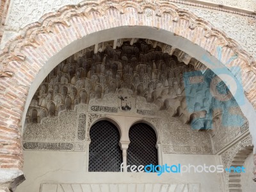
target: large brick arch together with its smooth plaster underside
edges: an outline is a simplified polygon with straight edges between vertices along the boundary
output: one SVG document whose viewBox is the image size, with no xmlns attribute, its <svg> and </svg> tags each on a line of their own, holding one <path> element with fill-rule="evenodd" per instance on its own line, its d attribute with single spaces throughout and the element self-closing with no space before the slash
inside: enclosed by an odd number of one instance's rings
<svg viewBox="0 0 256 192">
<path fill-rule="evenodd" d="M 48 13 L 22 29 L 20 36 L 0 53 L 0 133 L 4 143 L 0 168 L 17 170 L 13 178 L 21 174 L 22 168 L 20 120 L 26 116 L 24 111 L 36 88 L 58 63 L 95 43 L 127 36 L 148 37 L 195 56 L 213 70 L 216 66 L 225 70 L 239 66 L 246 95 L 256 106 L 255 60 L 225 33 L 168 1 L 108 2 L 84 1 Z"/>
</svg>

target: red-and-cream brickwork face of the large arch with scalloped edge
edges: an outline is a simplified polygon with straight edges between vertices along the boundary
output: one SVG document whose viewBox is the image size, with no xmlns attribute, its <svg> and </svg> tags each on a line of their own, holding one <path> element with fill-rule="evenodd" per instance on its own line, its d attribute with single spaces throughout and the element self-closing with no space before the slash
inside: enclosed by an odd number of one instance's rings
<svg viewBox="0 0 256 192">
<path fill-rule="evenodd" d="M 226 67 L 241 67 L 246 95 L 256 107 L 256 63 L 234 40 L 168 1 L 154 5 L 137 1 L 108 2 L 84 1 L 78 6 L 65 6 L 57 13 L 49 13 L 38 23 L 22 29 L 22 35 L 0 52 L 0 168 L 22 168 L 20 119 L 36 74 L 44 70 L 45 62 L 71 42 L 104 29 L 120 26 L 164 29 L 199 45 L 216 58 L 217 47 L 222 47 L 221 63 L 237 56 Z"/>
</svg>

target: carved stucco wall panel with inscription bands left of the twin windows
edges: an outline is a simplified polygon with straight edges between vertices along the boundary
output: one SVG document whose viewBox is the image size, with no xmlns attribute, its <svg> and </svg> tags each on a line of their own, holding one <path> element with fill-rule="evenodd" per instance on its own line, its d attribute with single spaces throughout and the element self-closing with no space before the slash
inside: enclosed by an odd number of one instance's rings
<svg viewBox="0 0 256 192">
<path fill-rule="evenodd" d="M 48 116 L 41 124 L 26 124 L 24 150 L 84 151 L 86 115 L 77 111 L 61 111 Z"/>
</svg>

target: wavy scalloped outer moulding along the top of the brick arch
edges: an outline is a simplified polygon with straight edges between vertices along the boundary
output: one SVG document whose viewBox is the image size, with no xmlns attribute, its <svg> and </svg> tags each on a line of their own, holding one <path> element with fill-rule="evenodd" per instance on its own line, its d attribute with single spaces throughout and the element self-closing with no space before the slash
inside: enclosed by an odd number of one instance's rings
<svg viewBox="0 0 256 192">
<path fill-rule="evenodd" d="M 209 22 L 196 17 L 193 15 L 193 13 L 190 13 L 186 10 L 178 9 L 176 6 L 167 1 L 154 4 L 143 3 L 141 1 L 135 1 L 132 3 L 129 1 L 123 1 L 120 4 L 111 3 L 111 6 L 105 1 L 95 1 L 93 4 L 90 4 L 88 1 L 84 1 L 83 3 L 79 3 L 78 6 L 65 6 L 64 8 L 61 8 L 58 13 L 46 14 L 40 19 L 40 22 L 37 22 L 36 24 L 29 24 L 22 30 L 22 35 L 19 36 L 19 38 L 16 38 L 12 42 L 6 44 L 6 49 L 4 49 L 4 52 L 0 56 L 0 61 L 3 63 L 1 68 L 3 68 L 3 70 L 12 70 L 12 68 L 8 67 L 8 63 L 12 63 L 12 61 L 20 63 L 27 61 L 27 48 L 39 47 L 41 45 L 40 42 L 42 38 L 51 38 L 51 34 L 54 34 L 56 30 L 58 31 L 58 25 L 61 24 L 64 29 L 72 28 L 74 19 L 79 19 L 81 22 L 83 22 L 82 20 L 87 20 L 90 18 L 91 13 L 97 13 L 97 17 L 102 17 L 102 15 L 108 15 L 109 10 L 115 10 L 115 12 L 118 10 L 117 13 L 123 15 L 129 14 L 130 12 L 145 15 L 149 14 L 148 18 L 161 18 L 165 16 L 172 17 L 172 22 L 177 23 L 179 23 L 180 20 L 186 20 L 186 22 L 189 23 L 189 30 L 202 29 L 202 31 L 205 31 L 205 35 L 202 36 L 202 38 L 217 38 L 218 45 L 223 47 L 223 51 L 230 49 L 230 52 L 233 52 L 234 55 L 237 56 L 236 61 L 232 62 L 232 66 L 239 66 L 243 68 L 243 77 L 255 77 L 255 68 L 253 68 L 255 65 L 255 60 L 252 58 L 252 56 L 250 56 L 250 54 L 241 49 L 239 44 L 228 38 L 225 33 L 215 29 Z M 151 11 L 149 12 L 149 10 Z M 88 31 L 88 29 L 83 30 Z M 177 35 L 179 35 L 180 31 L 186 31 L 186 29 L 180 29 L 176 31 Z M 77 34 L 80 36 L 79 38 L 81 38 L 81 34 L 83 33 L 83 31 L 77 31 Z M 99 47 L 99 49 L 101 48 L 102 47 Z M 211 52 L 212 55 L 216 54 L 214 49 L 207 51 Z M 223 61 L 224 58 L 218 59 L 225 63 L 225 61 Z M 254 97 L 253 93 L 251 92 L 252 84 L 253 83 L 247 84 L 247 82 L 244 81 L 244 87 L 248 88 L 246 92 L 248 93 L 249 99 Z"/>
</svg>

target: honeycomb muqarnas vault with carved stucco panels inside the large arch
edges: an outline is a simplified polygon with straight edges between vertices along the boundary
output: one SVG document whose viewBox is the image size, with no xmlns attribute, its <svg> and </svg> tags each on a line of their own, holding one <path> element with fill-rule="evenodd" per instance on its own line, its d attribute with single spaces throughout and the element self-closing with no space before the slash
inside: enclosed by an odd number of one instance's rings
<svg viewBox="0 0 256 192">
<path fill-rule="evenodd" d="M 172 116 L 178 116 L 183 124 L 191 124 L 193 129 L 198 127 L 196 130 L 192 130 L 188 125 L 177 125 L 186 127 L 186 131 L 177 128 L 183 136 L 186 135 L 184 138 L 189 137 L 189 134 L 197 137 L 195 132 L 198 132 L 199 129 L 212 129 L 211 132 L 205 133 L 204 138 L 207 138 L 205 143 L 202 143 L 203 139 L 195 140 L 195 146 L 192 143 L 186 144 L 192 148 L 180 149 L 180 145 L 187 141 L 177 140 L 177 135 L 173 134 L 170 128 L 173 125 L 163 124 L 163 138 L 166 138 L 163 141 L 163 150 L 168 153 L 184 151 L 185 154 L 194 152 L 201 154 L 214 152 L 215 154 L 248 129 L 246 123 L 243 126 L 221 124 L 233 119 L 232 115 L 234 114 L 244 118 L 243 113 L 234 98 L 232 99 L 232 95 L 228 95 L 227 87 L 221 84 L 220 79 L 215 78 L 216 75 L 211 70 L 205 70 L 204 76 L 202 72 L 199 72 L 199 75 L 196 72 L 196 76 L 188 76 L 189 73 L 194 73 L 198 66 L 202 68 L 203 65 L 198 61 L 188 58 L 186 54 L 178 50 L 174 50 L 170 55 L 166 52 L 168 47 L 166 48 L 165 44 L 152 40 L 136 39 L 132 40 L 132 45 L 129 39 L 122 40 L 122 42 L 121 47 L 116 47 L 116 49 L 111 47 L 113 46 L 111 42 L 104 43 L 102 46 L 108 46 L 96 54 L 95 50 L 89 47 L 77 52 L 54 68 L 40 85 L 31 101 L 26 118 L 24 140 L 44 138 L 49 141 L 59 141 L 50 139 L 54 136 L 51 135 L 51 131 L 48 134 L 49 138 L 44 135 L 46 133 L 42 130 L 47 131 L 51 127 L 49 125 L 44 128 L 45 122 L 51 122 L 53 127 L 58 127 L 56 122 L 58 117 L 56 116 L 69 113 L 77 114 L 75 111 L 81 106 L 83 106 L 83 113 L 75 115 L 78 120 L 76 122 L 77 139 L 80 141 L 85 140 L 85 136 L 89 139 L 88 129 L 94 120 L 102 116 L 100 114 L 102 112 L 154 115 L 163 118 L 161 113 L 165 111 L 167 121 L 171 120 Z M 187 62 L 188 65 L 184 62 Z M 207 78 L 213 80 L 204 81 Z M 190 81 L 191 86 L 185 87 L 184 81 Z M 218 88 L 218 84 L 221 84 L 221 91 L 225 92 L 223 97 L 227 95 L 230 97 L 228 104 L 221 100 L 222 96 L 220 95 L 218 95 L 218 99 L 214 98 L 214 95 L 209 96 L 212 84 L 216 88 Z M 89 113 L 86 118 L 87 111 L 94 113 Z M 99 114 L 95 112 L 99 112 Z M 68 117 L 67 119 L 70 120 Z M 158 120 L 154 121 L 154 118 L 150 117 L 147 119 L 150 119 L 149 122 L 153 121 L 152 124 L 160 129 Z M 87 130 L 85 128 L 86 120 L 88 120 Z M 246 122 L 245 118 L 244 122 Z M 33 134 L 38 129 L 42 131 L 42 134 Z M 70 127 L 67 129 L 71 130 Z M 73 133 L 68 136 L 73 135 L 75 138 L 76 129 L 72 130 Z M 173 131 L 177 130 L 173 129 Z M 213 151 L 211 145 L 208 145 L 211 143 L 210 133 Z M 171 135 L 169 136 L 169 134 Z M 171 141 L 172 134 L 175 135 L 172 140 L 176 146 L 173 143 L 168 143 Z M 202 136 L 202 134 L 198 133 L 198 136 Z M 63 138 L 61 141 L 67 141 L 65 136 Z"/>
</svg>

